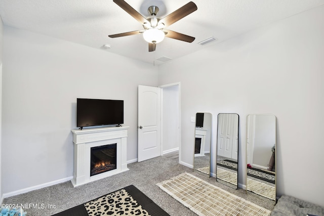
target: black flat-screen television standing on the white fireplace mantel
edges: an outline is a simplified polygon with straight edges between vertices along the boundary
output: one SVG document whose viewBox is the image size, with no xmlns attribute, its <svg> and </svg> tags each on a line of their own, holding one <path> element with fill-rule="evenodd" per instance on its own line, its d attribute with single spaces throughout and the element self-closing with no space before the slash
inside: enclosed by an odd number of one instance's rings
<svg viewBox="0 0 324 216">
<path fill-rule="evenodd" d="M 124 101 L 76 99 L 76 126 L 98 126 L 124 123 Z"/>
</svg>

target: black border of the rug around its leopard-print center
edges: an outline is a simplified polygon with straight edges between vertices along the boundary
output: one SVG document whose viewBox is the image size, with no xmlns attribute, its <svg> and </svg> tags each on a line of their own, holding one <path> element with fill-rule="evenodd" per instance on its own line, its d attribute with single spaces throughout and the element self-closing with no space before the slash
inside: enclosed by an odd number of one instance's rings
<svg viewBox="0 0 324 216">
<path fill-rule="evenodd" d="M 158 206 L 153 200 L 151 200 L 148 196 L 146 196 L 142 191 L 137 189 L 134 185 L 129 185 L 125 189 L 136 201 L 138 204 L 140 204 L 143 209 L 145 209 L 150 215 L 152 216 L 170 216 L 165 210 L 163 210 L 160 206 Z M 114 193 L 116 191 L 119 191 L 121 189 L 115 190 L 110 193 Z M 108 193 L 108 194 L 110 194 Z M 96 200 L 101 197 L 107 196 L 108 194 L 105 194 L 103 196 L 100 196 L 98 198 L 92 199 Z M 90 201 L 92 201 L 90 200 Z M 88 202 L 90 202 L 88 201 Z M 88 203 L 85 202 L 85 203 Z M 74 206 L 72 208 L 66 209 L 64 211 L 61 211 L 59 213 L 53 214 L 52 216 L 89 216 L 84 204 L 80 204 L 77 206 Z"/>
</svg>

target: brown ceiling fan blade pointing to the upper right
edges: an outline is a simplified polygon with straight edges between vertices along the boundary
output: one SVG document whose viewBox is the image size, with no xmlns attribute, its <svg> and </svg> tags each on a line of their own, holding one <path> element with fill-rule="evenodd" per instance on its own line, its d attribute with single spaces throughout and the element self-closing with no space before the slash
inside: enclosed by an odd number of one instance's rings
<svg viewBox="0 0 324 216">
<path fill-rule="evenodd" d="M 196 4 L 193 2 L 189 2 L 186 5 L 182 6 L 178 10 L 172 12 L 165 18 L 161 19 L 158 24 L 164 23 L 165 26 L 172 25 L 173 23 L 177 22 L 178 20 L 184 18 L 185 16 L 191 14 L 192 12 L 197 10 Z"/>
</svg>

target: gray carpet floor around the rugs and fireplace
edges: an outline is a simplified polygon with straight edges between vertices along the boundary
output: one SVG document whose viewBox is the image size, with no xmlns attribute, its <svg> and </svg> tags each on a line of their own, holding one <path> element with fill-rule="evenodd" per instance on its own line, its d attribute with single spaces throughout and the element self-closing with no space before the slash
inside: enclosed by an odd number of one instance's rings
<svg viewBox="0 0 324 216">
<path fill-rule="evenodd" d="M 242 189 L 234 190 L 228 188 L 227 186 L 217 183 L 215 178 L 204 178 L 197 174 L 197 172 L 193 172 L 193 169 L 180 165 L 177 160 L 165 156 L 156 157 L 143 162 L 134 162 L 128 164 L 128 168 L 130 169 L 129 171 L 86 185 L 74 188 L 72 183 L 68 181 L 6 198 L 3 203 L 44 204 L 45 208 L 29 208 L 25 209 L 25 211 L 27 211 L 27 215 L 33 216 L 52 215 L 126 186 L 134 185 L 170 215 L 196 215 L 155 185 L 156 183 L 168 180 L 183 172 L 188 172 L 262 207 L 270 210 L 273 209 L 272 204 L 269 204 L 263 199 L 259 199 L 254 194 L 247 194 L 246 191 Z M 49 204 L 55 205 L 56 208 L 48 208 L 47 206 Z"/>
</svg>

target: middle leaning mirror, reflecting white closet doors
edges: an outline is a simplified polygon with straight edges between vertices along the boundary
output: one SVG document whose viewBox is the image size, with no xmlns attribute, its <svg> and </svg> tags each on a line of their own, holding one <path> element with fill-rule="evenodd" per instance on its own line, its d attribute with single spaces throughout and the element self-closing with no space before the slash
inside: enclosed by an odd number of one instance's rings
<svg viewBox="0 0 324 216">
<path fill-rule="evenodd" d="M 216 180 L 237 189 L 238 114 L 218 114 Z"/>
</svg>

